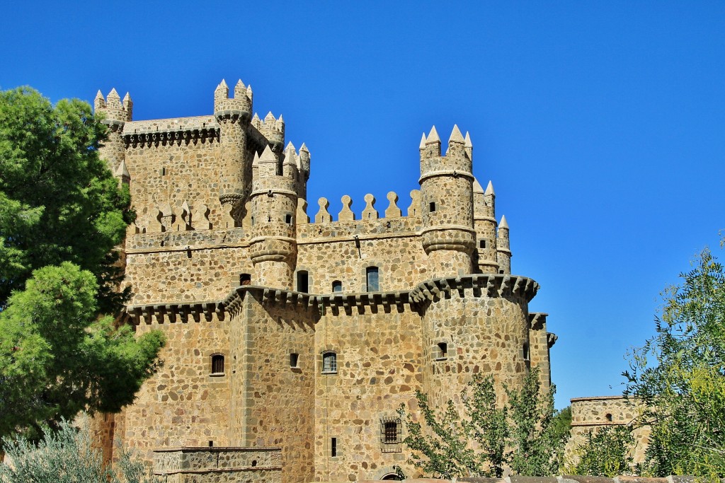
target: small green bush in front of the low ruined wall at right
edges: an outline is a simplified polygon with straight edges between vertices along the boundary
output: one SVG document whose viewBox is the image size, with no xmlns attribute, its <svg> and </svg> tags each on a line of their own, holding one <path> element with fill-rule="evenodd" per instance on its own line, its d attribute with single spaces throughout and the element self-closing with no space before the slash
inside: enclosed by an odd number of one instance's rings
<svg viewBox="0 0 725 483">
<path fill-rule="evenodd" d="M 608 426 L 589 431 L 584 444 L 574 450 L 576 464 L 568 466 L 566 472 L 610 477 L 631 474 L 631 448 L 634 436 L 629 427 Z"/>
</svg>

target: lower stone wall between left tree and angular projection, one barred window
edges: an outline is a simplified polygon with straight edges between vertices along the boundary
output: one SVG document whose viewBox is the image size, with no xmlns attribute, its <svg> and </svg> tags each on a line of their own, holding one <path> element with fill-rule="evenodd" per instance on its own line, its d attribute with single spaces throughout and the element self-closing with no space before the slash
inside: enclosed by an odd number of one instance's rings
<svg viewBox="0 0 725 483">
<path fill-rule="evenodd" d="M 152 450 L 178 446 L 228 445 L 230 322 L 140 324 L 137 332 L 159 329 L 166 336 L 157 374 L 141 387 L 133 406 L 123 411 L 125 429 L 117 436 L 151 461 Z M 213 374 L 212 354 L 225 355 L 224 374 Z"/>
</svg>

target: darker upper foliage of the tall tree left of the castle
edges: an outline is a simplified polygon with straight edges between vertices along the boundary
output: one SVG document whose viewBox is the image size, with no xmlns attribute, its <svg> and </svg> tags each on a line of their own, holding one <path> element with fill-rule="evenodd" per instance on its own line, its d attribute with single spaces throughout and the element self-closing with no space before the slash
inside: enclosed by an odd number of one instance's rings
<svg viewBox="0 0 725 483">
<path fill-rule="evenodd" d="M 0 92 L 0 308 L 33 270 L 63 261 L 94 274 L 102 311 L 128 295 L 115 291 L 113 248 L 134 214 L 99 158 L 105 135 L 86 102 Z"/>
</svg>

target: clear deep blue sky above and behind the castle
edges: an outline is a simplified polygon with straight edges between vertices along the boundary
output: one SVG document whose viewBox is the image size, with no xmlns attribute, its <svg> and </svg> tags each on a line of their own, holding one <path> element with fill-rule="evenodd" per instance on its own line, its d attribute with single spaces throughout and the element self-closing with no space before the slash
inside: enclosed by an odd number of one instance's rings
<svg viewBox="0 0 725 483">
<path fill-rule="evenodd" d="M 254 88 L 312 153 L 314 216 L 418 187 L 418 143 L 473 138 L 541 285 L 557 406 L 621 392 L 658 294 L 725 228 L 725 2 L 9 2 L 0 88 L 126 91 L 135 119 L 212 113 Z"/>
</svg>

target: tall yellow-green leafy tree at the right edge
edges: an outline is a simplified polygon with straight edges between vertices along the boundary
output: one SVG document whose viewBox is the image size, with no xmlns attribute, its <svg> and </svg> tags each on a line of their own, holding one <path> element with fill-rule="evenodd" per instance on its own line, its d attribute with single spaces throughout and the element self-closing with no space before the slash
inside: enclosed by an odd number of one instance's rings
<svg viewBox="0 0 725 483">
<path fill-rule="evenodd" d="M 705 249 L 663 294 L 655 335 L 631 353 L 626 395 L 651 427 L 643 471 L 725 476 L 725 272 Z"/>
</svg>

